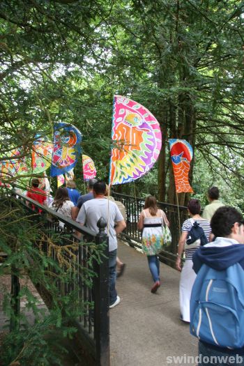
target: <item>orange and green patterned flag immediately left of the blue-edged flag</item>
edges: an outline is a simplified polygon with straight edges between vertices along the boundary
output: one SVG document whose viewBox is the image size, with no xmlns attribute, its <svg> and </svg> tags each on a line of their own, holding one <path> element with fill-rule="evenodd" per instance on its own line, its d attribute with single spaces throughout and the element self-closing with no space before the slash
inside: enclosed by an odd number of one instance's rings
<svg viewBox="0 0 244 366">
<path fill-rule="evenodd" d="M 52 162 L 52 149 L 52 143 L 45 141 L 45 138 L 40 135 L 36 136 L 31 153 L 33 173 L 42 173 L 49 168 Z"/>
</svg>

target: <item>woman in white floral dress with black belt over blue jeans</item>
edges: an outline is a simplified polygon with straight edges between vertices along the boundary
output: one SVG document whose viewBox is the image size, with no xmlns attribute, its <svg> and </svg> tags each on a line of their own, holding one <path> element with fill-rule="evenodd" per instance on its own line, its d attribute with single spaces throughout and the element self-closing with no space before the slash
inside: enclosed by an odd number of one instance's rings
<svg viewBox="0 0 244 366">
<path fill-rule="evenodd" d="M 158 253 L 162 250 L 162 224 L 169 226 L 169 221 L 157 206 L 155 197 L 146 197 L 144 210 L 139 216 L 138 229 L 142 230 L 142 250 L 147 255 L 148 266 L 153 276 L 151 292 L 155 293 L 160 287 L 160 263 Z"/>
</svg>

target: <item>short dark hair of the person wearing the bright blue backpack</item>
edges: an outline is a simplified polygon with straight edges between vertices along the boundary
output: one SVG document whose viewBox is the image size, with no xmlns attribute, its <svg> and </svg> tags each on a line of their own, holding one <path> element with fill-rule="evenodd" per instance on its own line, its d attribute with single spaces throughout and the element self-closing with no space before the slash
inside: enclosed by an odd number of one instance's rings
<svg viewBox="0 0 244 366">
<path fill-rule="evenodd" d="M 211 219 L 211 228 L 214 236 L 229 236 L 235 222 L 243 222 L 243 216 L 236 208 L 222 206 L 218 208 Z"/>
</svg>

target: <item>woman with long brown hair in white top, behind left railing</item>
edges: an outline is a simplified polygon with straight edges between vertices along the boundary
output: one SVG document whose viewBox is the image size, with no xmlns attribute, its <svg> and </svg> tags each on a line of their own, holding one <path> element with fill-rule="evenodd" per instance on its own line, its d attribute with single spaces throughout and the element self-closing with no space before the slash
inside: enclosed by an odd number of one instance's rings
<svg viewBox="0 0 244 366">
<path fill-rule="evenodd" d="M 54 201 L 52 204 L 49 204 L 49 208 L 52 208 L 57 213 L 61 213 L 62 215 L 67 216 L 68 218 L 72 219 L 72 209 L 74 207 L 74 204 L 72 201 L 70 201 L 70 197 L 68 196 L 68 190 L 66 187 L 59 187 L 56 190 L 56 194 L 54 197 Z M 64 226 L 63 222 L 59 222 L 59 225 L 61 227 Z"/>
</svg>

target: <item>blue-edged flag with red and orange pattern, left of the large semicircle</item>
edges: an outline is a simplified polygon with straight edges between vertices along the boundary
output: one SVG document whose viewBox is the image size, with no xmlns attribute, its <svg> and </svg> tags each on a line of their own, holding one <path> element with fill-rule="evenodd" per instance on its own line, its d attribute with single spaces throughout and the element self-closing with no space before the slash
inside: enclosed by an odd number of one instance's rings
<svg viewBox="0 0 244 366">
<path fill-rule="evenodd" d="M 54 125 L 54 149 L 51 176 L 59 176 L 73 169 L 81 151 L 82 134 L 68 123 Z"/>
</svg>

